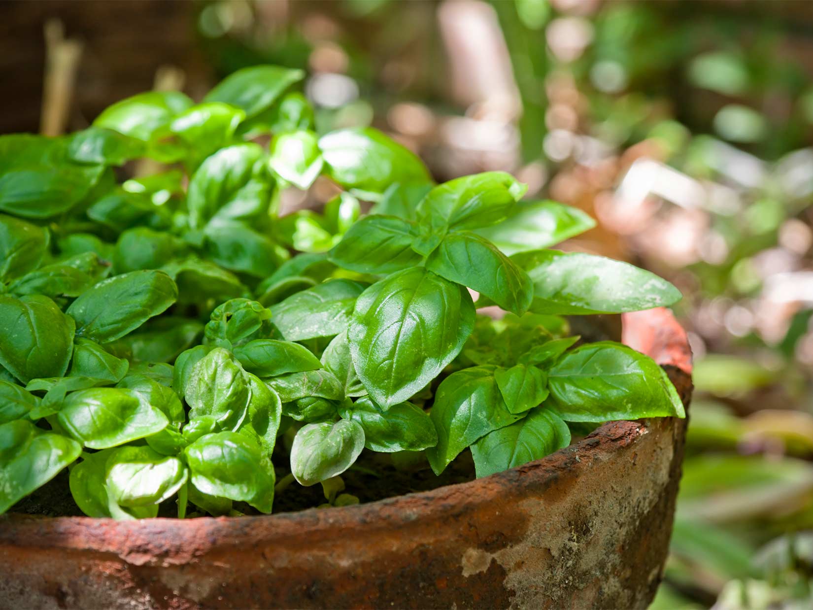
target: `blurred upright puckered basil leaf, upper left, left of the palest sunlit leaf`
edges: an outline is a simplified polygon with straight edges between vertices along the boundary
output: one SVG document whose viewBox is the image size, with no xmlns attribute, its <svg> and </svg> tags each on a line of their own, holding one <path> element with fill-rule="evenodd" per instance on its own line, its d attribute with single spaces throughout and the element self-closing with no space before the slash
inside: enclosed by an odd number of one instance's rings
<svg viewBox="0 0 813 610">
<path fill-rule="evenodd" d="M 254 142 L 221 148 L 189 180 L 189 226 L 202 229 L 212 218 L 262 220 L 271 201 L 273 178 L 265 153 Z"/>
</svg>

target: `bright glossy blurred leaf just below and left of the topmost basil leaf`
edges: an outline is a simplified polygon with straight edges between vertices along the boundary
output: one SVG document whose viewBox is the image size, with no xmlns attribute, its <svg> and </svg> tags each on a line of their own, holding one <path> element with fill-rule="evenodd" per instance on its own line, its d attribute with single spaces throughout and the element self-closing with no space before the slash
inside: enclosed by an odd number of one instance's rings
<svg viewBox="0 0 813 610">
<path fill-rule="evenodd" d="M 246 118 L 239 108 L 222 102 L 204 102 L 177 115 L 169 129 L 191 152 L 192 167 L 231 142 L 237 125 Z"/>
</svg>

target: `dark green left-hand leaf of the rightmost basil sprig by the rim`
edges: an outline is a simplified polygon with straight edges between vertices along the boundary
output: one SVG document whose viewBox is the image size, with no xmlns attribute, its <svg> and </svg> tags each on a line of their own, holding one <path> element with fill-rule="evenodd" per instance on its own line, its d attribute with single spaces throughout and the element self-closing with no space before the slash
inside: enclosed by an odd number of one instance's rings
<svg viewBox="0 0 813 610">
<path fill-rule="evenodd" d="M 464 368 L 438 386 L 429 413 L 437 430 L 437 446 L 426 451 L 435 474 L 442 473 L 473 442 L 524 416 L 508 410 L 494 378 L 496 370 L 493 366 Z"/>
</svg>

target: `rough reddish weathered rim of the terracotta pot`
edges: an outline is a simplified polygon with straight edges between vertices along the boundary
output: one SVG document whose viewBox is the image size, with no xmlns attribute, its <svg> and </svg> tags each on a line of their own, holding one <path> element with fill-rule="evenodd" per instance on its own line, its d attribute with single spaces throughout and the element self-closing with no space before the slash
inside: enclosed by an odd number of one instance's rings
<svg viewBox="0 0 813 610">
<path fill-rule="evenodd" d="M 658 364 L 670 373 L 672 381 L 678 386 L 680 394 L 683 388 L 691 385 L 691 352 L 685 331 L 676 322 L 672 312 L 664 308 L 633 312 L 624 314 L 623 342 L 633 348 L 650 355 Z M 511 468 L 502 473 L 489 477 L 465 481 L 449 486 L 441 486 L 434 490 L 394 496 L 380 499 L 370 503 L 357 504 L 347 507 L 325 509 L 308 508 L 297 512 L 280 512 L 272 515 L 247 517 L 195 517 L 190 519 L 174 519 L 156 517 L 137 521 L 116 521 L 109 518 L 93 518 L 88 516 L 65 517 L 37 517 L 18 514 L 0 516 L 0 542 L 12 545 L 23 543 L 26 547 L 66 547 L 85 548 L 96 551 L 115 551 L 120 553 L 121 543 L 133 536 L 133 547 L 124 551 L 133 563 L 137 560 L 137 542 L 149 536 L 150 548 L 143 549 L 145 560 L 150 560 L 156 551 L 164 551 L 164 560 L 168 563 L 181 563 L 184 557 L 199 556 L 215 543 L 222 547 L 226 536 L 232 538 L 234 545 L 240 545 L 250 539 L 252 527 L 262 521 L 263 533 L 272 536 L 280 543 L 286 539 L 294 540 L 302 537 L 303 530 L 309 536 L 318 536 L 325 531 L 336 532 L 341 527 L 363 524 L 367 531 L 377 529 L 390 530 L 398 527 L 408 527 L 411 522 L 423 520 L 429 514 L 437 519 L 443 512 L 453 514 L 458 510 L 459 503 L 487 504 L 493 499 L 495 490 L 505 489 L 507 486 L 522 486 L 523 478 L 530 473 L 543 473 L 546 479 L 553 484 L 563 469 L 572 468 L 580 463 L 580 455 L 591 454 L 592 458 L 611 460 L 613 453 L 622 447 L 627 447 L 643 434 L 648 434 L 648 420 L 612 421 L 602 425 L 593 434 L 583 438 L 560 451 L 546 456 L 541 460 Z M 499 481 L 499 485 L 493 485 Z M 485 492 L 485 493 L 483 493 Z M 13 523 L 11 529 L 2 527 Z M 201 526 L 204 525 L 206 536 L 201 536 Z M 23 529 L 26 539 L 20 540 Z M 70 532 L 75 529 L 87 529 L 98 532 L 98 537 L 92 531 L 89 536 L 77 540 L 73 536 L 60 538 L 59 531 Z M 102 535 L 104 532 L 112 533 L 115 529 L 116 547 Z M 54 535 L 56 534 L 56 535 Z M 80 542 L 80 544 L 76 544 Z M 180 552 L 179 552 L 180 551 Z M 176 557 L 176 560 L 172 560 Z"/>
</svg>

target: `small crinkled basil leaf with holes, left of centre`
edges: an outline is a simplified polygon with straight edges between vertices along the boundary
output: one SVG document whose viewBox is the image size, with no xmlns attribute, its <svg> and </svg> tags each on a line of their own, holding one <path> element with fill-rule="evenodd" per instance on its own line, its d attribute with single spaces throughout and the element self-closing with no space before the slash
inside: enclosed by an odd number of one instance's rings
<svg viewBox="0 0 813 610">
<path fill-rule="evenodd" d="M 271 310 L 248 298 L 232 298 L 215 307 L 203 329 L 206 342 L 215 346 L 245 345 L 273 332 Z"/>
</svg>

